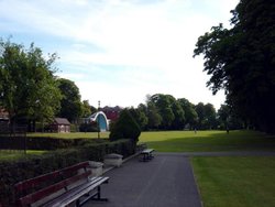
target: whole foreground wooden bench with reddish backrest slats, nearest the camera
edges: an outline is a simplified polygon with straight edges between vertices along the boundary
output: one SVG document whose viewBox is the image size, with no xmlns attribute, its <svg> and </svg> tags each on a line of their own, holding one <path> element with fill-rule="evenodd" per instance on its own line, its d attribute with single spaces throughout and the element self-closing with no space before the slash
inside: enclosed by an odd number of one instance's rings
<svg viewBox="0 0 275 207">
<path fill-rule="evenodd" d="M 70 204 L 81 206 L 89 199 L 107 201 L 101 198 L 100 185 L 109 177 L 89 177 L 89 162 L 47 173 L 15 184 L 16 206 L 62 207 Z"/>
</svg>

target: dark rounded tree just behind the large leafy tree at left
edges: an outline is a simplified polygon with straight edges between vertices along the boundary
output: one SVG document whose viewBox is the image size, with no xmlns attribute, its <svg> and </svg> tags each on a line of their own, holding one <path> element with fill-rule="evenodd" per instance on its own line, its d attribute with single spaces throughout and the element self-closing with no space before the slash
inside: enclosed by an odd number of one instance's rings
<svg viewBox="0 0 275 207">
<path fill-rule="evenodd" d="M 58 79 L 62 92 L 61 110 L 57 116 L 74 121 L 82 115 L 82 103 L 78 87 L 74 81 L 65 78 Z"/>
</svg>

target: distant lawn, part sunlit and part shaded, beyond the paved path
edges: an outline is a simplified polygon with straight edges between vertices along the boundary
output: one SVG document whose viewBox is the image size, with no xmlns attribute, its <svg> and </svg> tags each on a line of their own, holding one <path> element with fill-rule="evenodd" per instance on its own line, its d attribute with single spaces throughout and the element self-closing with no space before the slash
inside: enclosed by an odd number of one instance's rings
<svg viewBox="0 0 275 207">
<path fill-rule="evenodd" d="M 274 150 L 275 139 L 254 131 L 142 132 L 140 142 L 158 152 Z"/>
</svg>

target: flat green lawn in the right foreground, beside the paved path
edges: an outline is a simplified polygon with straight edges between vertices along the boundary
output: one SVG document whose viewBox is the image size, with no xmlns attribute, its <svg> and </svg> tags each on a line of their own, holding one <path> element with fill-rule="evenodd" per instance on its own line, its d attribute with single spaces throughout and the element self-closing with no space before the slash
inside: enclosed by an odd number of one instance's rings
<svg viewBox="0 0 275 207">
<path fill-rule="evenodd" d="M 205 207 L 275 206 L 274 157 L 193 157 Z"/>
</svg>

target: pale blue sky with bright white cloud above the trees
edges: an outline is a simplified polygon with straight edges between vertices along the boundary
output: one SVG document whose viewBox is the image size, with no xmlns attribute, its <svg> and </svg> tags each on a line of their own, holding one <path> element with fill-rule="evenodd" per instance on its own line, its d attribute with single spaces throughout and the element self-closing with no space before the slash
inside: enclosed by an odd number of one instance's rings
<svg viewBox="0 0 275 207">
<path fill-rule="evenodd" d="M 239 0 L 0 0 L 0 37 L 57 53 L 57 76 L 94 107 L 136 107 L 167 94 L 218 110 L 196 42 L 230 28 Z"/>
</svg>

